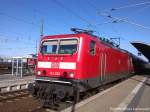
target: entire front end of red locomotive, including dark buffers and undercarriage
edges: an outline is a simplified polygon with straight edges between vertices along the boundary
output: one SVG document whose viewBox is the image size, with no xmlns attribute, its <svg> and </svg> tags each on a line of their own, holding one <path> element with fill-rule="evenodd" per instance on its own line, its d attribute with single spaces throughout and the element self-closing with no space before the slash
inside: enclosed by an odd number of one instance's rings
<svg viewBox="0 0 150 112">
<path fill-rule="evenodd" d="M 28 86 L 34 96 L 51 101 L 64 99 L 74 93 L 80 78 L 82 39 L 77 34 L 42 38 L 35 83 Z"/>
</svg>

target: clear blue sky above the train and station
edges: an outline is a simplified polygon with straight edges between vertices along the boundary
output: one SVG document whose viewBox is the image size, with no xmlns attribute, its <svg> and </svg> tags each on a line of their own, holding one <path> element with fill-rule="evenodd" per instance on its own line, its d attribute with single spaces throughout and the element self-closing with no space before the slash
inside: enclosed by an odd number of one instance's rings
<svg viewBox="0 0 150 112">
<path fill-rule="evenodd" d="M 119 37 L 120 47 L 137 55 L 137 50 L 130 42 L 150 43 L 149 2 L 150 0 L 0 0 L 0 56 L 36 53 L 41 20 L 44 21 L 44 35 L 70 34 L 72 27 L 90 29 L 100 37 Z M 111 10 L 112 8 L 116 10 Z M 105 15 L 128 22 L 117 19 L 114 23 L 116 19 Z"/>
</svg>

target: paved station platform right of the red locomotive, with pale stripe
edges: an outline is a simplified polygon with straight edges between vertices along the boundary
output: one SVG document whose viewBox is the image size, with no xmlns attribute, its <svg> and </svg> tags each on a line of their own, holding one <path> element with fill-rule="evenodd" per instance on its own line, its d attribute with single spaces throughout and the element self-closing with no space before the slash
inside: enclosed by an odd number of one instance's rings
<svg viewBox="0 0 150 112">
<path fill-rule="evenodd" d="M 69 107 L 62 112 L 70 112 Z M 150 75 L 136 75 L 75 105 L 75 112 L 150 112 Z"/>
</svg>

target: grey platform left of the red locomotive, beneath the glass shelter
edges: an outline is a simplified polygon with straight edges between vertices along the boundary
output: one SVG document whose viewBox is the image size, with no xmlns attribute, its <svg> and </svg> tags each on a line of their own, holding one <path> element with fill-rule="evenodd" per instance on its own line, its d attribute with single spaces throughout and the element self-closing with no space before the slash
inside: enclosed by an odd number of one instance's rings
<svg viewBox="0 0 150 112">
<path fill-rule="evenodd" d="M 7 87 L 11 85 L 18 85 L 29 83 L 34 80 L 35 76 L 23 76 L 22 78 L 19 76 L 12 76 L 12 74 L 3 74 L 0 75 L 0 88 Z"/>
</svg>

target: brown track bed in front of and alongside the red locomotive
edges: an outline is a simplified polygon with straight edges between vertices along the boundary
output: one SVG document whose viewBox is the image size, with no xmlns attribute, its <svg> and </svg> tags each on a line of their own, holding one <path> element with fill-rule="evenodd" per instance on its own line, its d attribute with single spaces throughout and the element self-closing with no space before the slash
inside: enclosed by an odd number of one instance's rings
<svg viewBox="0 0 150 112">
<path fill-rule="evenodd" d="M 109 83 L 95 90 L 88 91 L 84 95 L 80 95 L 78 102 L 81 102 L 99 92 L 102 92 L 122 80 Z M 72 107 L 72 112 L 74 111 L 75 102 L 73 100 L 67 100 L 65 102 L 60 102 L 59 106 L 52 108 L 41 107 L 40 101 L 29 95 L 26 90 L 14 91 L 9 93 L 0 94 L 0 110 L 1 112 L 61 112 L 62 110 Z"/>
</svg>

